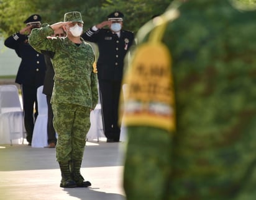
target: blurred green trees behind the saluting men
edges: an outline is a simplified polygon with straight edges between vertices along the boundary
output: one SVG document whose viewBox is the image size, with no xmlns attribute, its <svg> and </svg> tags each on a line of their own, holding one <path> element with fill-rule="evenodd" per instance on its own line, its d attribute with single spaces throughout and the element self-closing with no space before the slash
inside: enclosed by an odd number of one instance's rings
<svg viewBox="0 0 256 200">
<path fill-rule="evenodd" d="M 136 33 L 153 15 L 162 14 L 171 1 L 173 0 L 0 0 L 0 37 L 6 38 L 21 30 L 24 20 L 32 14 L 40 14 L 42 22 L 53 24 L 62 21 L 65 12 L 70 11 L 81 12 L 86 30 L 91 25 L 106 20 L 109 13 L 119 10 L 125 15 L 124 28 Z M 256 5 L 256 0 L 227 1 Z"/>
</svg>

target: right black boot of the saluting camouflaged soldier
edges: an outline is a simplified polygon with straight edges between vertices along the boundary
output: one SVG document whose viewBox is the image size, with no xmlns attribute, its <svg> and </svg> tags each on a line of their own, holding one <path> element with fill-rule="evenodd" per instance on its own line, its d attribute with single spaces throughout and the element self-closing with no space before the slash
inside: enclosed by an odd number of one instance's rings
<svg viewBox="0 0 256 200">
<path fill-rule="evenodd" d="M 89 181 L 85 181 L 85 178 L 80 173 L 82 160 L 71 160 L 71 178 L 76 182 L 76 186 L 80 188 L 87 188 L 91 186 Z"/>
</svg>

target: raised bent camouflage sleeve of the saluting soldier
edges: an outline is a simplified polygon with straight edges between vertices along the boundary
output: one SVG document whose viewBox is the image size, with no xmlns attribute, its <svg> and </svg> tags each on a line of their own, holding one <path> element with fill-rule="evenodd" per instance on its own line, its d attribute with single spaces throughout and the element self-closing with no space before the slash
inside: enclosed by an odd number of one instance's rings
<svg viewBox="0 0 256 200">
<path fill-rule="evenodd" d="M 53 51 L 53 40 L 48 40 L 47 36 L 53 35 L 54 31 L 48 24 L 43 24 L 41 28 L 34 28 L 29 35 L 30 45 L 40 53 L 42 50 Z"/>
</svg>

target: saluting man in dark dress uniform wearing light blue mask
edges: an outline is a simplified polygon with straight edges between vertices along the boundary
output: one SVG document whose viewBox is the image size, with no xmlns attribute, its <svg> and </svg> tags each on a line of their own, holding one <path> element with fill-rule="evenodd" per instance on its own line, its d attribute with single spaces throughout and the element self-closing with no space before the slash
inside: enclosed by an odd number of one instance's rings
<svg viewBox="0 0 256 200">
<path fill-rule="evenodd" d="M 107 142 L 119 142 L 118 107 L 124 57 L 134 41 L 134 33 L 122 30 L 122 12 L 115 11 L 107 17 L 108 20 L 89 28 L 81 37 L 98 45 L 97 69 L 104 134 Z M 109 28 L 103 28 L 105 26 Z"/>
</svg>

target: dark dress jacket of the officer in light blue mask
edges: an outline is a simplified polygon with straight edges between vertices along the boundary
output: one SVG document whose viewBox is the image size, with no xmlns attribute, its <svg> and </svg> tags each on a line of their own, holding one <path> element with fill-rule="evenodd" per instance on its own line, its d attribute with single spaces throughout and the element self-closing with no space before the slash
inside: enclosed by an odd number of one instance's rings
<svg viewBox="0 0 256 200">
<path fill-rule="evenodd" d="M 134 41 L 134 33 L 121 30 L 119 38 L 110 29 L 101 28 L 95 32 L 89 28 L 81 37 L 98 45 L 98 79 L 122 80 L 124 57 Z"/>
</svg>

